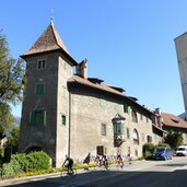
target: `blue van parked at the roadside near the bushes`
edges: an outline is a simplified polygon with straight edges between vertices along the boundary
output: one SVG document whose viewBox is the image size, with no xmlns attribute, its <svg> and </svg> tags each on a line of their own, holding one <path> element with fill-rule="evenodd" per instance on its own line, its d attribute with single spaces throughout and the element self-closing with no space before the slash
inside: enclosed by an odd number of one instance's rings
<svg viewBox="0 0 187 187">
<path fill-rule="evenodd" d="M 172 159 L 173 152 L 170 147 L 157 147 L 154 154 L 153 159 L 154 160 L 168 160 Z"/>
</svg>

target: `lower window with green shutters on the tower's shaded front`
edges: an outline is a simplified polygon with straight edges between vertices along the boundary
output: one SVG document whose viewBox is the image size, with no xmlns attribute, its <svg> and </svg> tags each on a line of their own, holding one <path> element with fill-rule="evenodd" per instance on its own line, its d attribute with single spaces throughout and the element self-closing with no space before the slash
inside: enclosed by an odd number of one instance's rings
<svg viewBox="0 0 187 187">
<path fill-rule="evenodd" d="M 34 110 L 30 113 L 30 124 L 32 126 L 46 125 L 46 110 Z"/>
</svg>

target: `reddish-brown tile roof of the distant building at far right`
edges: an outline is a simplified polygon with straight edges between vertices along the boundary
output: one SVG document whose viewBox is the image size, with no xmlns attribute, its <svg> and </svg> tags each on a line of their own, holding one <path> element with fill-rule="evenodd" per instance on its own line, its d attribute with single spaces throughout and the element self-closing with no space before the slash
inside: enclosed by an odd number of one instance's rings
<svg viewBox="0 0 187 187">
<path fill-rule="evenodd" d="M 187 128 L 187 121 L 173 114 L 161 113 L 163 124 L 170 127 Z"/>
</svg>

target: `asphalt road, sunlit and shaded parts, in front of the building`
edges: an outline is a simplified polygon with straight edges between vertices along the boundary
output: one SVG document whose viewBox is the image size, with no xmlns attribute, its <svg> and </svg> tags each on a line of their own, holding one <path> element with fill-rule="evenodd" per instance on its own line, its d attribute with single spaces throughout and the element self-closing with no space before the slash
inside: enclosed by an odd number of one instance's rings
<svg viewBox="0 0 187 187">
<path fill-rule="evenodd" d="M 185 187 L 187 178 L 187 156 L 170 161 L 137 161 L 125 164 L 119 170 L 91 170 L 74 176 L 60 177 L 59 174 L 10 179 L 0 186 L 12 187 Z"/>
</svg>

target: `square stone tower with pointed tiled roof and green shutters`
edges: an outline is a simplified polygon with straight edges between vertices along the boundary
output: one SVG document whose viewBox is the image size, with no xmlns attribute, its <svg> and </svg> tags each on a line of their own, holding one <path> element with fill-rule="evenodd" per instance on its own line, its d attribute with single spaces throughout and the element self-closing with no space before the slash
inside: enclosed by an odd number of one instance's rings
<svg viewBox="0 0 187 187">
<path fill-rule="evenodd" d="M 21 56 L 26 61 L 20 152 L 44 150 L 58 165 L 69 152 L 67 80 L 77 61 L 69 55 L 52 22 Z"/>
</svg>

